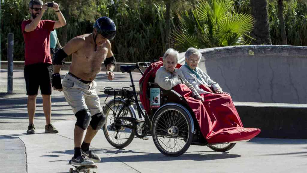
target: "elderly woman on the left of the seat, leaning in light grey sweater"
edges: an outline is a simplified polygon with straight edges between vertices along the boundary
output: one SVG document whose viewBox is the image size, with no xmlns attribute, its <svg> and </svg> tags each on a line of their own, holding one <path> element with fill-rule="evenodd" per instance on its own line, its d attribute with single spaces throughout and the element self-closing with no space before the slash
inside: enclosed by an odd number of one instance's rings
<svg viewBox="0 0 307 173">
<path fill-rule="evenodd" d="M 163 56 L 163 66 L 157 70 L 154 82 L 165 90 L 170 90 L 180 83 L 185 84 L 192 91 L 192 96 L 195 99 L 204 101 L 196 89 L 185 79 L 181 70 L 175 69 L 178 63 L 178 55 L 178 51 L 172 48 L 166 50 Z"/>
</svg>

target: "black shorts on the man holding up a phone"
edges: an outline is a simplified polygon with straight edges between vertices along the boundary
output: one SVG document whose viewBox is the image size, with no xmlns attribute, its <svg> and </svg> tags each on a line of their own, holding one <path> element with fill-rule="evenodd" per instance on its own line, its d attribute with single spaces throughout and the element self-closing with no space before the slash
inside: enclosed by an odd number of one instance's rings
<svg viewBox="0 0 307 173">
<path fill-rule="evenodd" d="M 23 71 L 27 95 L 37 95 L 38 87 L 42 95 L 51 95 L 53 66 L 48 63 L 26 65 Z"/>
</svg>

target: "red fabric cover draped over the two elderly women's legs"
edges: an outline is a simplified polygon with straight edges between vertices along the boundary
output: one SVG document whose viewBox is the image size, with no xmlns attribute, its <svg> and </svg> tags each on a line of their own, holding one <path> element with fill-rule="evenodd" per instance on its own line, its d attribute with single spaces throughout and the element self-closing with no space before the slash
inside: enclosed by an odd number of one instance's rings
<svg viewBox="0 0 307 173">
<path fill-rule="evenodd" d="M 209 91 L 208 87 L 200 87 Z M 230 95 L 202 94 L 201 96 L 205 99 L 202 103 L 190 97 L 192 92 L 184 84 L 173 87 L 173 90 L 185 97 L 208 143 L 248 140 L 260 133 L 260 129 L 257 128 L 243 128 Z"/>
</svg>

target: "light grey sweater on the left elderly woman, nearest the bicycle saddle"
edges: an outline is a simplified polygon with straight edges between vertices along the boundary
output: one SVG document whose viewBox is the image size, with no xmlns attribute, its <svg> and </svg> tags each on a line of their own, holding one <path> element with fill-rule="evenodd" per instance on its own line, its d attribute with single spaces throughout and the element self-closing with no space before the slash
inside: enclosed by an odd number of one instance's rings
<svg viewBox="0 0 307 173">
<path fill-rule="evenodd" d="M 174 86 L 183 83 L 190 88 L 193 96 L 199 95 L 193 85 L 185 79 L 180 69 L 176 68 L 175 72 L 178 76 L 174 76 L 173 73 L 167 71 L 164 66 L 161 66 L 156 72 L 154 82 L 165 90 L 171 90 Z"/>
</svg>

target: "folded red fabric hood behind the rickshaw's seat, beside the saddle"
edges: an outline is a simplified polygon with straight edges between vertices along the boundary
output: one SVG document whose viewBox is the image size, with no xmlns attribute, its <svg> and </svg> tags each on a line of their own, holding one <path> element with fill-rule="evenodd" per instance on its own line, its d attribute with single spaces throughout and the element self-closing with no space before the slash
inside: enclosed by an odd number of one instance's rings
<svg viewBox="0 0 307 173">
<path fill-rule="evenodd" d="M 145 70 L 142 78 L 139 81 L 140 88 L 142 88 L 142 92 L 140 93 L 140 100 L 141 100 L 141 103 L 143 104 L 143 107 L 144 107 L 144 109 L 145 109 L 145 111 L 147 113 L 149 113 L 149 109 L 150 109 L 149 100 L 146 98 L 146 91 L 147 91 L 147 87 L 148 87 L 148 80 L 150 78 L 154 79 L 156 77 L 157 70 L 161 66 L 163 66 L 162 57 L 160 57 L 159 59 L 160 59 L 160 61 L 151 63 L 149 65 L 149 67 Z M 181 67 L 180 64 L 176 65 L 176 68 L 180 68 L 180 67 Z M 151 81 L 151 82 L 154 82 L 154 81 Z"/>
</svg>

